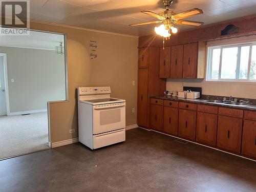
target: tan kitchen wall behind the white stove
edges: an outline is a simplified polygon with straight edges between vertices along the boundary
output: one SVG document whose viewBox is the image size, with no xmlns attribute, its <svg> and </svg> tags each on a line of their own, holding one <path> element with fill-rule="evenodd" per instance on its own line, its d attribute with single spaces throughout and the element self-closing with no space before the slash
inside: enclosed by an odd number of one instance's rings
<svg viewBox="0 0 256 192">
<path fill-rule="evenodd" d="M 33 22 L 30 26 L 67 35 L 69 100 L 49 104 L 51 142 L 78 137 L 76 88 L 80 86 L 111 86 L 113 97 L 126 100 L 126 126 L 137 123 L 137 114 L 132 113 L 132 108 L 137 109 L 137 37 Z M 90 40 L 98 45 L 94 60 L 89 55 Z M 75 133 L 70 134 L 70 129 Z"/>
</svg>

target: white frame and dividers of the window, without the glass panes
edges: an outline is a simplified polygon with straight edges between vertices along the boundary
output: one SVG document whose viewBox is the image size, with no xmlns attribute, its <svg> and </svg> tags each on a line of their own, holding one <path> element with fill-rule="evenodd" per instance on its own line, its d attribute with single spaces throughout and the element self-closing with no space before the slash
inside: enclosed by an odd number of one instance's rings
<svg viewBox="0 0 256 192">
<path fill-rule="evenodd" d="M 249 59 L 248 59 L 248 71 L 247 71 L 247 79 L 239 79 L 240 73 L 240 57 L 241 57 L 241 47 L 249 46 Z M 252 46 L 256 46 L 256 42 L 242 42 L 239 44 L 227 44 L 227 45 L 219 45 L 219 46 L 207 46 L 207 68 L 206 68 L 206 81 L 232 81 L 232 82 L 256 82 L 256 80 L 250 80 L 250 66 L 251 66 L 251 53 Z M 236 69 L 236 79 L 222 79 L 221 78 L 221 66 L 222 66 L 222 50 L 224 48 L 232 48 L 232 47 L 240 47 L 238 49 L 238 59 L 237 59 L 237 69 Z M 211 67 L 212 67 L 212 53 L 214 49 L 221 49 L 220 53 L 220 66 L 219 66 L 219 78 L 211 79 Z M 238 62 L 239 61 L 239 62 Z"/>
</svg>

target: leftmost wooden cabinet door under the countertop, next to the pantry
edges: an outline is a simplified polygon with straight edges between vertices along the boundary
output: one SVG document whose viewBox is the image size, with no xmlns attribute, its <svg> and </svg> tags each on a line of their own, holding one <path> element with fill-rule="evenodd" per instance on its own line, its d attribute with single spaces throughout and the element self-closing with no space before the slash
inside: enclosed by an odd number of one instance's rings
<svg viewBox="0 0 256 192">
<path fill-rule="evenodd" d="M 151 128 L 163 131 L 163 106 L 151 104 Z"/>
</svg>

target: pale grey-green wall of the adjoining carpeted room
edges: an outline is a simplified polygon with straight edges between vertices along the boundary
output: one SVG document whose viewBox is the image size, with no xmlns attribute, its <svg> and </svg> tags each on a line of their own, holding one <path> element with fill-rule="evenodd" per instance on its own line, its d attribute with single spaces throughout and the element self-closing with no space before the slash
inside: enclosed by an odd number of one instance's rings
<svg viewBox="0 0 256 192">
<path fill-rule="evenodd" d="M 0 53 L 7 54 L 10 113 L 47 109 L 48 101 L 66 99 L 63 55 L 14 47 L 0 47 Z"/>
</svg>

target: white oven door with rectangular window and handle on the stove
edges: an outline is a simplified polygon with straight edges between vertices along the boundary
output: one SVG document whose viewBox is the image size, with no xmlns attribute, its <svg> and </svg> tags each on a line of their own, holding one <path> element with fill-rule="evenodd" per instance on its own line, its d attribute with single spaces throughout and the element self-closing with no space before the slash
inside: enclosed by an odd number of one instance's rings
<svg viewBox="0 0 256 192">
<path fill-rule="evenodd" d="M 112 103 L 94 106 L 94 135 L 123 128 L 125 128 L 125 103 Z"/>
</svg>

